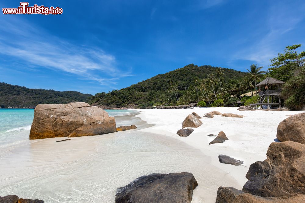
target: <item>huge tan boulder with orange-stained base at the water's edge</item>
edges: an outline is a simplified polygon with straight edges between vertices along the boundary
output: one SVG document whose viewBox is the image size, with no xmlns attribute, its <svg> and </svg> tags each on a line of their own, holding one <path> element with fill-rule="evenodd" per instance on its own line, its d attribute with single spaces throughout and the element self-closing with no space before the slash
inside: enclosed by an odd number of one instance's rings
<svg viewBox="0 0 305 203">
<path fill-rule="evenodd" d="M 114 117 L 88 103 L 39 104 L 30 139 L 80 137 L 117 132 Z"/>
</svg>

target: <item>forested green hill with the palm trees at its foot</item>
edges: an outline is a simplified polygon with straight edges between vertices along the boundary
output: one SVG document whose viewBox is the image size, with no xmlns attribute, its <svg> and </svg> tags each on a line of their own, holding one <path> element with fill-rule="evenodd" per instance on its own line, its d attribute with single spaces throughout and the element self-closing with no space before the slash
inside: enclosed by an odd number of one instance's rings
<svg viewBox="0 0 305 203">
<path fill-rule="evenodd" d="M 239 99 L 232 100 L 231 95 L 236 96 L 249 89 L 242 82 L 245 75 L 245 72 L 233 69 L 190 64 L 127 88 L 97 93 L 91 97 L 90 103 L 113 108 L 145 108 L 199 101 L 212 105 L 215 100 L 224 99 L 224 104 L 234 105 Z"/>
</svg>

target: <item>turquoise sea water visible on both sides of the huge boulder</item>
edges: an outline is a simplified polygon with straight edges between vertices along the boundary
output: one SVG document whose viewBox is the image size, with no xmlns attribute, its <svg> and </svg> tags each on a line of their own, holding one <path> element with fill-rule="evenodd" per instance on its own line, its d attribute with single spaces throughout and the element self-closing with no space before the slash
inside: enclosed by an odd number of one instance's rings
<svg viewBox="0 0 305 203">
<path fill-rule="evenodd" d="M 109 116 L 128 115 L 132 110 L 106 110 Z M 29 139 L 34 109 L 0 109 L 0 148 Z"/>
</svg>

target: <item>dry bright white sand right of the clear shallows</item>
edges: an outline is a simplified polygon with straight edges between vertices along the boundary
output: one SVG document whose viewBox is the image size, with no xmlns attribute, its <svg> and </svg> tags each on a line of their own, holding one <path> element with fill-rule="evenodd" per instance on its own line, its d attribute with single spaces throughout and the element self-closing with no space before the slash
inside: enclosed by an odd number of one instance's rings
<svg viewBox="0 0 305 203">
<path fill-rule="evenodd" d="M 244 115 L 243 118 L 222 117 L 216 115 L 214 118 L 204 117 L 204 114 L 213 110 L 221 113 L 234 113 Z M 207 197 L 199 197 L 203 192 L 198 187 L 194 192 L 193 202 L 214 202 L 216 199 L 217 188 L 219 186 L 231 186 L 242 189 L 246 183 L 246 173 L 249 166 L 256 161 L 266 159 L 266 152 L 271 142 L 278 142 L 276 139 L 276 131 L 278 124 L 289 117 L 289 115 L 299 114 L 304 111 L 239 111 L 237 107 L 218 107 L 218 108 L 195 108 L 195 109 L 141 109 L 141 114 L 137 115 L 149 124 L 155 124 L 151 128 L 142 129 L 142 132 L 153 132 L 161 135 L 171 136 L 187 143 L 188 145 L 199 149 L 203 154 L 210 157 L 211 164 L 218 169 L 227 173 L 225 177 L 215 177 L 222 179 L 223 183 L 214 187 L 213 201 Z M 199 128 L 193 128 L 195 131 L 188 137 L 179 137 L 176 132 L 181 129 L 182 121 L 188 114 L 196 112 L 202 119 L 203 124 Z M 209 143 L 215 137 L 207 135 L 218 135 L 220 131 L 224 131 L 228 139 L 224 143 Z M 218 155 L 224 154 L 239 159 L 244 162 L 242 166 L 233 166 L 219 162 Z M 195 174 L 194 174 L 195 175 Z M 202 176 L 210 176 L 210 174 L 202 174 Z M 195 176 L 197 179 L 198 177 Z M 234 178 L 237 184 L 226 184 L 226 178 Z M 205 185 L 205 187 L 210 187 Z M 210 192 L 210 191 L 209 191 Z M 208 200 L 208 201 L 206 201 Z"/>
</svg>

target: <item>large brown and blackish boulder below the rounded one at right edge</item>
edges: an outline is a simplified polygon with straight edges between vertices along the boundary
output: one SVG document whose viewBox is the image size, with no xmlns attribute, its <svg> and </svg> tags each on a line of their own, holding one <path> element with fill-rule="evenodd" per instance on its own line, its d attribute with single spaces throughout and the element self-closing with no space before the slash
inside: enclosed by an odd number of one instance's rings
<svg viewBox="0 0 305 203">
<path fill-rule="evenodd" d="M 305 194 L 305 145 L 273 142 L 267 159 L 253 163 L 242 191 L 262 197 Z"/>
</svg>

